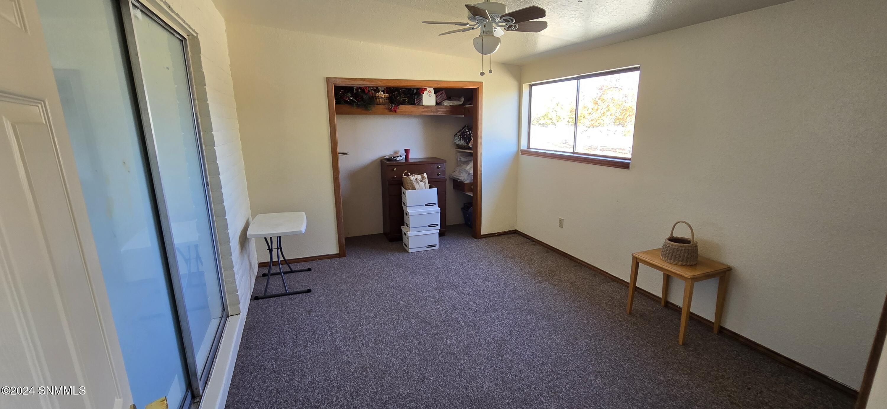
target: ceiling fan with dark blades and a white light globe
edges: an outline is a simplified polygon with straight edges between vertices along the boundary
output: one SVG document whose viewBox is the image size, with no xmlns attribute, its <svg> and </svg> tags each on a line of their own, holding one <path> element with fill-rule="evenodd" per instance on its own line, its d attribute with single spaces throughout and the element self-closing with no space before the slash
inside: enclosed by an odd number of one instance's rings
<svg viewBox="0 0 887 409">
<path fill-rule="evenodd" d="M 547 21 L 531 21 L 546 17 L 546 10 L 538 5 L 524 7 L 514 12 L 506 12 L 506 5 L 486 0 L 478 4 L 465 4 L 468 9 L 468 21 L 422 21 L 425 24 L 451 24 L 453 26 L 467 26 L 455 30 L 441 33 L 440 35 L 449 35 L 453 33 L 461 33 L 480 29 L 480 35 L 474 40 L 475 50 L 483 55 L 490 55 L 496 50 L 501 43 L 498 37 L 504 35 L 506 31 L 522 31 L 527 33 L 538 33 L 548 27 Z M 492 72 L 492 70 L 491 70 Z M 483 72 L 481 73 L 483 75 Z"/>
</svg>

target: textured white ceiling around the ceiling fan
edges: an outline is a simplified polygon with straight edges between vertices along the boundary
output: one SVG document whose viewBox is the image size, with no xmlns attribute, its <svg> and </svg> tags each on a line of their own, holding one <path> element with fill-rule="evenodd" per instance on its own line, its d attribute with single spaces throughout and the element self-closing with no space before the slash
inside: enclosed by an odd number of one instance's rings
<svg viewBox="0 0 887 409">
<path fill-rule="evenodd" d="M 422 20 L 467 21 L 464 0 L 214 0 L 224 18 L 267 27 L 479 58 L 476 31 L 438 36 L 456 26 Z M 506 33 L 493 61 L 525 64 L 590 50 L 788 0 L 499 0 L 514 11 L 546 9 L 538 34 Z M 471 3 L 475 3 L 472 1 Z"/>
</svg>

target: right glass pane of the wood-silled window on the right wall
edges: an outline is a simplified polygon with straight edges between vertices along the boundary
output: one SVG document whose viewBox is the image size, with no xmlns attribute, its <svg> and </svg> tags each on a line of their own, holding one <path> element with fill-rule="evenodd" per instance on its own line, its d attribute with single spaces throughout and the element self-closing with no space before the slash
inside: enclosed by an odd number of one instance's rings
<svg viewBox="0 0 887 409">
<path fill-rule="evenodd" d="M 640 71 L 579 80 L 576 151 L 632 157 Z"/>
</svg>

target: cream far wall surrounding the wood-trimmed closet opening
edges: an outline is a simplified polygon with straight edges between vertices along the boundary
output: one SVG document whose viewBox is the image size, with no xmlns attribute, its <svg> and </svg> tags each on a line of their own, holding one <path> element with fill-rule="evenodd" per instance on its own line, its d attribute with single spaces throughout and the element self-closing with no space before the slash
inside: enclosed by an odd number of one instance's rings
<svg viewBox="0 0 887 409">
<path fill-rule="evenodd" d="M 519 67 L 482 77 L 480 58 L 236 22 L 228 33 L 253 213 L 308 215 L 304 235 L 284 238 L 288 258 L 338 252 L 326 77 L 483 81 L 482 231 L 514 228 Z"/>
</svg>

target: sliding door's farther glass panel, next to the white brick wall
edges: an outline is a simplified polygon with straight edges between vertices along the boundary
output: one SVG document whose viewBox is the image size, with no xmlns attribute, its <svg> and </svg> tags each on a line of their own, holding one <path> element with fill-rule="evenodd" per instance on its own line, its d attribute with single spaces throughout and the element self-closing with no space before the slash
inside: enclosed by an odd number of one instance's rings
<svg viewBox="0 0 887 409">
<path fill-rule="evenodd" d="M 208 369 L 223 305 L 184 42 L 138 10 L 133 27 L 188 315 L 187 338 L 201 374 Z"/>
</svg>

